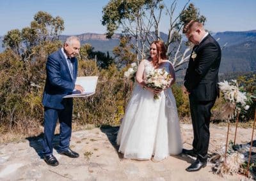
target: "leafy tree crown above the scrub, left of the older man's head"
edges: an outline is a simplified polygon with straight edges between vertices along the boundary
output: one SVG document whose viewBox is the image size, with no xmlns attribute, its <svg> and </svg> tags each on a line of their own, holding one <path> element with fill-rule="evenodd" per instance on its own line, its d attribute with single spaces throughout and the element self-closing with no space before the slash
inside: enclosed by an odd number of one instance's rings
<svg viewBox="0 0 256 181">
<path fill-rule="evenodd" d="M 48 45 L 46 41 L 52 41 L 58 45 L 60 33 L 64 30 L 64 21 L 61 17 L 52 17 L 45 11 L 38 11 L 30 27 L 24 27 L 21 31 L 13 29 L 4 36 L 4 46 L 11 48 L 22 60 L 31 59 L 38 47 Z M 44 47 L 42 47 L 44 49 Z M 36 51 L 35 51 L 36 50 Z"/>
</svg>

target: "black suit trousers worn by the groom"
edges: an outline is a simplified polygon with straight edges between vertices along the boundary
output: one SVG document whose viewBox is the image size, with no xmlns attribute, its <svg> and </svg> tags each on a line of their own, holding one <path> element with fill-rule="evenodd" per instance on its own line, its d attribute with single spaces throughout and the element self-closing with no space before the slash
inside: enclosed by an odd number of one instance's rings
<svg viewBox="0 0 256 181">
<path fill-rule="evenodd" d="M 197 101 L 193 96 L 189 96 L 191 119 L 194 131 L 193 148 L 196 154 L 202 159 L 207 159 L 207 151 L 210 140 L 210 119 L 211 108 L 215 103 L 212 101 Z"/>
</svg>

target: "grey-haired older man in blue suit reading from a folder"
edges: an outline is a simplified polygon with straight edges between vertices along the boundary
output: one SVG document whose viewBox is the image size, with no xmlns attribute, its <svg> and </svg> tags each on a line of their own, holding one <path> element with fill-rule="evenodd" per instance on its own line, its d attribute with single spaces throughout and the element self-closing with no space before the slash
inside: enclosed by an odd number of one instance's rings
<svg viewBox="0 0 256 181">
<path fill-rule="evenodd" d="M 46 62 L 44 95 L 44 160 L 51 166 L 58 166 L 58 160 L 52 155 L 52 139 L 57 120 L 60 122 L 59 153 L 68 157 L 79 157 L 70 149 L 69 143 L 72 131 L 73 99 L 63 98 L 74 89 L 83 92 L 81 85 L 75 85 L 77 77 L 77 59 L 80 41 L 76 36 L 70 36 L 60 50 L 49 55 Z"/>
</svg>

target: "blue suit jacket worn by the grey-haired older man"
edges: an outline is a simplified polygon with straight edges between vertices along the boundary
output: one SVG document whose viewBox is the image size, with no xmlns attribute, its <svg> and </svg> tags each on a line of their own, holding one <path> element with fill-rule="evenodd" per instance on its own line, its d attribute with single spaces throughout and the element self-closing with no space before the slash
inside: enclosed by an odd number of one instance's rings
<svg viewBox="0 0 256 181">
<path fill-rule="evenodd" d="M 47 58 L 44 95 L 42 103 L 49 108 L 63 109 L 63 96 L 70 94 L 75 87 L 77 77 L 77 59 L 71 59 L 74 67 L 74 78 L 70 75 L 67 60 L 61 49 Z M 70 98 L 65 98 L 70 99 Z"/>
</svg>

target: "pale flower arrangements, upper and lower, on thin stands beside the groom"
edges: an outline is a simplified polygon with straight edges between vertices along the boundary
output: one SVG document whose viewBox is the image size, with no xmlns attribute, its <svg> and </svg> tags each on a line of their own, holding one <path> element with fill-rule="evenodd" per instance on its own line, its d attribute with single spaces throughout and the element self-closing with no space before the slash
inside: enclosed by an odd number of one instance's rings
<svg viewBox="0 0 256 181">
<path fill-rule="evenodd" d="M 223 105 L 221 108 L 221 118 L 228 121 L 229 129 L 229 120 L 234 119 L 235 116 L 238 116 L 237 114 L 239 112 L 246 112 L 250 108 L 252 99 L 255 96 L 243 91 L 243 87 L 239 87 L 236 80 L 231 80 L 230 82 L 224 80 L 223 82 L 218 83 L 218 85 L 220 87 L 220 91 L 223 93 L 223 98 L 226 101 L 225 105 Z M 212 155 L 210 159 L 210 162 L 214 164 L 212 166 L 212 171 L 218 175 L 221 175 L 221 177 L 225 177 L 227 174 L 232 175 L 234 173 L 246 175 L 248 160 L 250 159 L 250 168 L 254 168 L 256 164 L 256 157 L 250 157 L 248 155 L 250 146 L 250 143 L 238 145 L 235 144 L 235 141 L 226 143 L 225 147 L 221 148 L 221 150 Z"/>
</svg>

